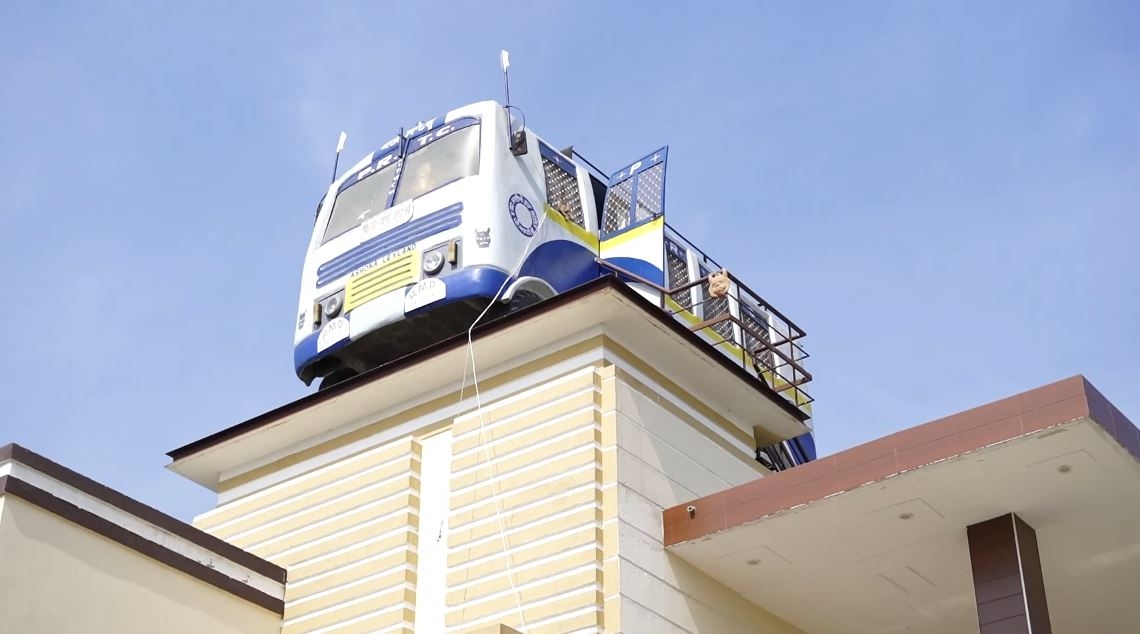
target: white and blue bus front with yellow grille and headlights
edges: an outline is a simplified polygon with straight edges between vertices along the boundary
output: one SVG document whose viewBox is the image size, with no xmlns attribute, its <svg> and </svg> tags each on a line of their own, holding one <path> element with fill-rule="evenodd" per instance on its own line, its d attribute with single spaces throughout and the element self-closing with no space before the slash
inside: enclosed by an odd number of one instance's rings
<svg viewBox="0 0 1140 634">
<path fill-rule="evenodd" d="M 518 171 L 506 125 L 494 101 L 457 108 L 333 182 L 302 273 L 294 365 L 306 384 L 463 332 L 499 291 L 519 249 L 491 213 Z"/>
</svg>

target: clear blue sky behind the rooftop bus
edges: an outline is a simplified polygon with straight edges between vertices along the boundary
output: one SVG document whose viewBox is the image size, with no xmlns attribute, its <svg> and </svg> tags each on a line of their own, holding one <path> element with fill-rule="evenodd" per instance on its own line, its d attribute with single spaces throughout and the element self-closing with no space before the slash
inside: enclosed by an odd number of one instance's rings
<svg viewBox="0 0 1140 634">
<path fill-rule="evenodd" d="M 177 517 L 314 391 L 332 170 L 511 96 L 808 333 L 822 453 L 1085 374 L 1140 421 L 1140 3 L 0 3 L 0 444 Z"/>
</svg>

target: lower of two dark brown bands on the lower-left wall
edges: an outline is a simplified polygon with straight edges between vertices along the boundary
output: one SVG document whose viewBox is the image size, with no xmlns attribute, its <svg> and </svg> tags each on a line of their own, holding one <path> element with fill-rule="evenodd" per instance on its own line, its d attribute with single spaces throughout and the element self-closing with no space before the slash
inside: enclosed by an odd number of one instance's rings
<svg viewBox="0 0 1140 634">
<path fill-rule="evenodd" d="M 11 446 L 9 445 L 3 449 L 10 450 L 10 448 Z M 3 452 L 0 450 L 0 457 L 2 456 Z M 135 533 L 131 533 L 130 530 L 127 530 L 107 519 L 100 518 L 90 511 L 80 509 L 79 506 L 60 499 L 51 495 L 51 493 L 30 485 L 24 480 L 11 476 L 0 477 L 0 494 L 13 495 L 25 502 L 34 504 L 49 513 L 54 513 L 70 522 L 106 537 L 112 542 L 127 546 L 128 548 L 158 561 L 160 563 L 170 566 L 176 570 L 186 572 L 198 580 L 205 582 L 219 590 L 238 596 L 239 599 L 244 599 L 278 616 L 285 613 L 285 601 L 283 599 L 270 596 L 269 594 L 266 594 L 250 585 L 243 584 L 237 579 L 230 578 L 213 568 L 198 563 L 186 555 L 179 554 L 165 546 L 136 535 Z"/>
</svg>

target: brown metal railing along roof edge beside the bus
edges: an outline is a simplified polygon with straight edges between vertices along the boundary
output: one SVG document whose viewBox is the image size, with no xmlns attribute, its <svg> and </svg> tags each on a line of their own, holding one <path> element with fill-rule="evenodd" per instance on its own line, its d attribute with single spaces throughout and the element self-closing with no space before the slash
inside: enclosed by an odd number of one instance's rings
<svg viewBox="0 0 1140 634">
<path fill-rule="evenodd" d="M 809 404 L 813 399 L 803 388 L 812 380 L 812 374 L 804 367 L 808 355 L 799 343 L 805 336 L 804 331 L 735 275 L 717 269 L 710 275 L 667 288 L 612 262 L 601 258 L 596 260 L 621 277 L 653 288 L 660 298 L 659 308 L 686 324 L 690 331 L 702 335 L 710 346 L 734 359 L 746 371 L 755 371 L 757 380 L 811 415 Z M 723 294 L 715 293 L 710 287 L 710 278 L 718 274 L 726 275 L 728 279 Z M 678 293 L 698 286 L 701 287 L 700 298 L 693 300 L 691 306 L 686 307 L 673 299 Z M 723 308 L 724 300 L 727 300 L 728 310 Z M 707 310 L 712 304 L 718 306 L 715 310 Z"/>
</svg>

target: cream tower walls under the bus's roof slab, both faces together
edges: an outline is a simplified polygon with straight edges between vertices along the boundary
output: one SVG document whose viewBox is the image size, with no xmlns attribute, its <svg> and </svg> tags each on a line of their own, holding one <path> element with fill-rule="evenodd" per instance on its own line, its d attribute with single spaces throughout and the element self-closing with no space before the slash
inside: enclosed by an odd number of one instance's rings
<svg viewBox="0 0 1140 634">
<path fill-rule="evenodd" d="M 448 633 L 796 632 L 662 548 L 663 507 L 763 473 L 750 439 L 715 404 L 605 338 L 595 343 L 612 363 L 598 348 L 556 379 L 528 382 L 542 369 L 532 363 L 512 371 L 518 390 L 481 409 L 448 420 L 417 406 L 434 422 L 409 437 L 296 476 L 259 468 L 275 483 L 196 525 L 288 568 L 286 634 L 418 633 L 417 598 L 440 605 Z M 450 458 L 427 466 L 431 440 L 420 434 L 441 429 Z M 421 481 L 434 478 L 448 481 L 438 502 L 447 520 L 422 528 L 439 494 Z M 438 568 L 423 563 L 445 554 Z"/>
</svg>

